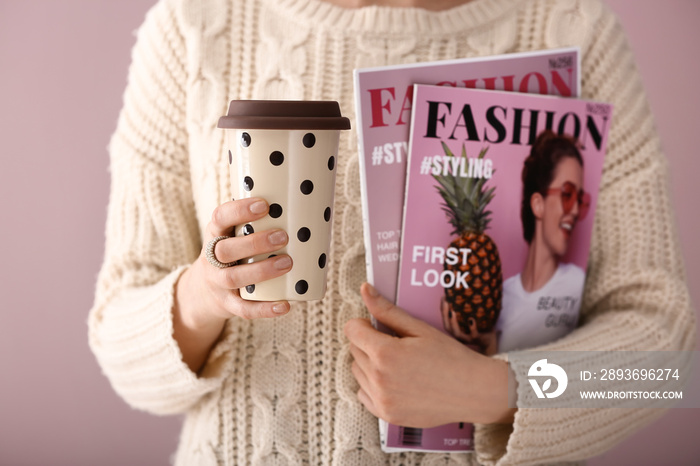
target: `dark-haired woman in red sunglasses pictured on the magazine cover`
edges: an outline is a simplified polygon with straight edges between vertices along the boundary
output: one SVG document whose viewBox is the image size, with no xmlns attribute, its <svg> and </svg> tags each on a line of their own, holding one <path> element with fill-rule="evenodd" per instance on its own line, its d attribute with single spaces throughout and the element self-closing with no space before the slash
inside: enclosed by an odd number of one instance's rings
<svg viewBox="0 0 700 466">
<path fill-rule="evenodd" d="M 528 253 L 523 271 L 503 283 L 498 349 L 533 348 L 569 333 L 578 322 L 585 272 L 563 263 L 576 223 L 590 206 L 575 141 L 551 131 L 532 145 L 522 172 L 520 218 Z"/>
</svg>

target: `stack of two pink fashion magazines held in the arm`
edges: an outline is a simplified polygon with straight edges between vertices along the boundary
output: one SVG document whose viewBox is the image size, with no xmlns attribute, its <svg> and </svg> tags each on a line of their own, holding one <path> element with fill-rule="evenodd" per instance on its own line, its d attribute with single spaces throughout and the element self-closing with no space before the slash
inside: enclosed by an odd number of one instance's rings
<svg viewBox="0 0 700 466">
<path fill-rule="evenodd" d="M 484 354 L 578 323 L 612 117 L 579 98 L 579 53 L 355 70 L 368 281 Z M 387 452 L 473 450 L 465 423 L 380 435 Z"/>
</svg>

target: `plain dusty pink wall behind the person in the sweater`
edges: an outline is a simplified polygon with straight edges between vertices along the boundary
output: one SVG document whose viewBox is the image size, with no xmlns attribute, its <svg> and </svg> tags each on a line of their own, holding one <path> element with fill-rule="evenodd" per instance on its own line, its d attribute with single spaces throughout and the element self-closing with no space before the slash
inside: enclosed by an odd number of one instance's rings
<svg viewBox="0 0 700 466">
<path fill-rule="evenodd" d="M 607 0 L 635 49 L 668 155 L 700 302 L 700 2 Z M 181 420 L 130 409 L 87 346 L 102 259 L 106 146 L 132 31 L 152 0 L 0 2 L 0 464 L 165 465 Z M 595 466 L 697 464 L 697 410 L 672 410 Z"/>
</svg>

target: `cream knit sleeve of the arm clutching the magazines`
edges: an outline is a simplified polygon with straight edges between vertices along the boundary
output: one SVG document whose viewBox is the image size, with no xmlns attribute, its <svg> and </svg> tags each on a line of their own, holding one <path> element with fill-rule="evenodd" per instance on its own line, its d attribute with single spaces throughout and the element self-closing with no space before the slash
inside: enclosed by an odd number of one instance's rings
<svg viewBox="0 0 700 466">
<path fill-rule="evenodd" d="M 597 2 L 588 5 L 593 3 Z M 670 204 L 666 160 L 641 79 L 617 19 L 604 8 L 589 40 L 582 47 L 583 97 L 612 103 L 614 113 L 595 213 L 582 325 L 535 350 L 692 350 L 695 317 Z M 518 399 L 534 396 L 527 369 L 517 369 Z M 519 408 L 512 425 L 477 425 L 476 451 L 479 461 L 487 465 L 580 461 L 611 448 L 662 413 L 659 409 Z"/>
</svg>

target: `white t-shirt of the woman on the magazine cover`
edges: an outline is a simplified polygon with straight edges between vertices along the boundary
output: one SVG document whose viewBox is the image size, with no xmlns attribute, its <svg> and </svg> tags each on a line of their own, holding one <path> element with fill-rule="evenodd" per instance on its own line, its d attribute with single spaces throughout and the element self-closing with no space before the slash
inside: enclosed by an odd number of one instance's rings
<svg viewBox="0 0 700 466">
<path fill-rule="evenodd" d="M 503 308 L 496 328 L 498 351 L 532 348 L 563 337 L 576 327 L 586 273 L 559 264 L 545 286 L 528 293 L 520 274 L 503 283 Z"/>
</svg>

